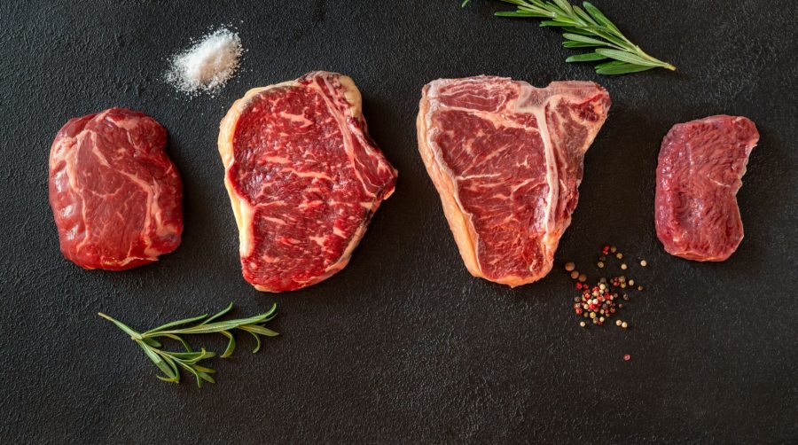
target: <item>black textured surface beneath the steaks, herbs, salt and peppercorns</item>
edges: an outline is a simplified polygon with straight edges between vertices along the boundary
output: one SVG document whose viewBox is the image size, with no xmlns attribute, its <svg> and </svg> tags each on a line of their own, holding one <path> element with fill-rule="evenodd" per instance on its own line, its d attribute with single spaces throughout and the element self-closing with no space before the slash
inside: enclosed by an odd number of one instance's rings
<svg viewBox="0 0 798 445">
<path fill-rule="evenodd" d="M 794 441 L 796 3 L 595 3 L 677 73 L 599 77 L 568 66 L 558 34 L 493 18 L 502 5 L 484 0 L 465 10 L 458 0 L 0 3 L 0 438 Z M 187 98 L 162 82 L 168 56 L 223 24 L 247 50 L 226 88 Z M 340 274 L 258 293 L 239 272 L 218 122 L 247 89 L 315 69 L 355 79 L 399 182 Z M 556 268 L 515 290 L 468 275 L 417 154 L 421 87 L 471 74 L 593 80 L 613 98 Z M 59 254 L 47 157 L 67 119 L 113 105 L 169 130 L 184 241 L 150 266 L 85 271 Z M 654 235 L 656 155 L 671 125 L 715 113 L 744 114 L 762 133 L 739 192 L 746 238 L 727 262 L 686 262 Z M 626 332 L 579 328 L 561 270 L 595 261 L 605 241 L 652 264 L 638 273 L 648 290 L 626 310 Z M 239 316 L 278 301 L 272 327 L 284 335 L 259 355 L 240 337 L 236 355 L 212 362 L 218 383 L 201 390 L 185 376 L 155 379 L 136 345 L 96 315 L 144 329 L 230 301 Z"/>
</svg>

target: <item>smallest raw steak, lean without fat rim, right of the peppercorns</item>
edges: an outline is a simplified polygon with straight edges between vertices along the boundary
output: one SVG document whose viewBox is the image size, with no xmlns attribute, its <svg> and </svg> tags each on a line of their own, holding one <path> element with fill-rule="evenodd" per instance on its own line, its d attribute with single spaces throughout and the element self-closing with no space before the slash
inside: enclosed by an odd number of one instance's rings
<svg viewBox="0 0 798 445">
<path fill-rule="evenodd" d="M 743 238 L 737 191 L 759 141 L 745 117 L 675 125 L 662 141 L 655 199 L 657 237 L 687 260 L 722 262 Z"/>
</svg>

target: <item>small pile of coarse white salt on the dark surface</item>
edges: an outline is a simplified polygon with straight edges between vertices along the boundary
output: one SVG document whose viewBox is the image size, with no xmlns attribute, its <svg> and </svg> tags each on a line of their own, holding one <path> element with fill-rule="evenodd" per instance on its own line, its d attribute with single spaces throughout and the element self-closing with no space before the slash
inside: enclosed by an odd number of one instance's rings
<svg viewBox="0 0 798 445">
<path fill-rule="evenodd" d="M 236 73 L 243 52 L 238 34 L 218 29 L 172 58 L 167 81 L 188 94 L 213 93 Z"/>
</svg>

